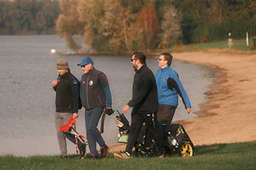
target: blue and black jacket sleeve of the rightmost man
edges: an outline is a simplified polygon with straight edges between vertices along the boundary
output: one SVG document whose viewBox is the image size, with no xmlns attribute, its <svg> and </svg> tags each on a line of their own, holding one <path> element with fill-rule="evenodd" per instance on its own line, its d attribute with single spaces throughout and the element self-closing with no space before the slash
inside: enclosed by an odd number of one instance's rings
<svg viewBox="0 0 256 170">
<path fill-rule="evenodd" d="M 177 77 L 169 77 L 167 80 L 167 86 L 170 90 L 177 90 L 178 95 L 181 96 L 181 99 L 186 109 L 191 108 L 189 96 L 187 96 L 187 92 L 185 91 L 183 85 L 181 84 L 181 81 L 178 79 L 178 75 Z"/>
</svg>

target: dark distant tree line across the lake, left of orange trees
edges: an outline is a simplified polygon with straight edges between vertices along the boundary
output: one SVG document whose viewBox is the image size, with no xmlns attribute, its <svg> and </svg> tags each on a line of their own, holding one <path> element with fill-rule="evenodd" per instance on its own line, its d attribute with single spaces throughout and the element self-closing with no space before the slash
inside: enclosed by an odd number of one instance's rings
<svg viewBox="0 0 256 170">
<path fill-rule="evenodd" d="M 0 34 L 56 34 L 58 0 L 0 0 Z"/>
</svg>

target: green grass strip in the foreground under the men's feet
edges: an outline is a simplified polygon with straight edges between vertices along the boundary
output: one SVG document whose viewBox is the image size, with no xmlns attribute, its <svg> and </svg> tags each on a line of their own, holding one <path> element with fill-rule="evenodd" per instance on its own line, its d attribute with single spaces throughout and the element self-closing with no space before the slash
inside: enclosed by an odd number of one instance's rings
<svg viewBox="0 0 256 170">
<path fill-rule="evenodd" d="M 58 156 L 15 157 L 0 156 L 0 169 L 255 169 L 256 142 L 214 144 L 196 147 L 192 158 L 172 156 L 168 158 L 132 158 L 117 160 L 110 156 L 105 160 L 80 160 L 77 155 L 67 159 Z"/>
</svg>

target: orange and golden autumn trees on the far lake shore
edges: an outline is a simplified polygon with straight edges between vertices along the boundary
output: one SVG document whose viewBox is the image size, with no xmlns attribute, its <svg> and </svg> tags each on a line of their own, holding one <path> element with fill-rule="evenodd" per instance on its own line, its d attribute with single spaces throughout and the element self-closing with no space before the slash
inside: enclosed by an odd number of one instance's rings
<svg viewBox="0 0 256 170">
<path fill-rule="evenodd" d="M 181 12 L 170 1 L 62 0 L 56 22 L 72 50 L 127 53 L 181 43 Z"/>
</svg>

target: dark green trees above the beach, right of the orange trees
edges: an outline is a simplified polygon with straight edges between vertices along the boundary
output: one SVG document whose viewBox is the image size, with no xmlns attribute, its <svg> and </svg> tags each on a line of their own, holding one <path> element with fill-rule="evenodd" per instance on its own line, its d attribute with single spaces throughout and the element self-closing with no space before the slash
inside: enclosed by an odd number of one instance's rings
<svg viewBox="0 0 256 170">
<path fill-rule="evenodd" d="M 184 43 L 245 38 L 256 34 L 255 0 L 179 0 Z"/>
</svg>

